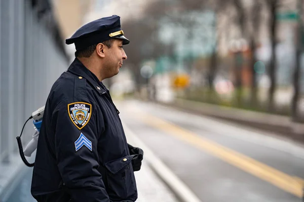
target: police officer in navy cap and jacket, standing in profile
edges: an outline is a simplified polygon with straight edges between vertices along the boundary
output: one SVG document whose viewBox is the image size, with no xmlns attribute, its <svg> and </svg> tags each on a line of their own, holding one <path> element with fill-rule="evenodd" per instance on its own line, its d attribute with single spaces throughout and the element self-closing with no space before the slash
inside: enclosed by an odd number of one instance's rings
<svg viewBox="0 0 304 202">
<path fill-rule="evenodd" d="M 130 41 L 120 17 L 77 30 L 75 59 L 45 106 L 31 193 L 37 201 L 135 201 L 143 151 L 127 143 L 119 111 L 102 80 L 119 73 Z"/>
</svg>

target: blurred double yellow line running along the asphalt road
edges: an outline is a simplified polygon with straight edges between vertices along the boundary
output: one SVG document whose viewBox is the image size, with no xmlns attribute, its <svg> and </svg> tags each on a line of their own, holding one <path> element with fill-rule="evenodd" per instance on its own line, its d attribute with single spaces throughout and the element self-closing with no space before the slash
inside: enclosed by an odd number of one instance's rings
<svg viewBox="0 0 304 202">
<path fill-rule="evenodd" d="M 134 111 L 133 111 L 134 112 Z M 166 133 L 192 144 L 199 149 L 207 151 L 209 154 L 229 163 L 239 169 L 250 173 L 264 181 L 267 181 L 297 197 L 302 197 L 303 179 L 289 176 L 275 168 L 262 164 L 252 158 L 238 153 L 230 148 L 222 146 L 216 142 L 208 140 L 196 133 L 187 131 L 172 123 L 168 123 L 157 117 L 138 112 L 133 113 L 147 125 L 162 129 Z"/>
</svg>

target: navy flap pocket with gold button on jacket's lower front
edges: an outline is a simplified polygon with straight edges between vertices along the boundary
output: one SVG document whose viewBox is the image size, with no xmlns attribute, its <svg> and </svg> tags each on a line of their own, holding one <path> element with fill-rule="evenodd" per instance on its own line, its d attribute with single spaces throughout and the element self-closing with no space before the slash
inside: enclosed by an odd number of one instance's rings
<svg viewBox="0 0 304 202">
<path fill-rule="evenodd" d="M 130 155 L 105 164 L 110 199 L 127 199 L 135 193 L 136 185 L 131 163 L 133 157 L 134 155 Z"/>
</svg>

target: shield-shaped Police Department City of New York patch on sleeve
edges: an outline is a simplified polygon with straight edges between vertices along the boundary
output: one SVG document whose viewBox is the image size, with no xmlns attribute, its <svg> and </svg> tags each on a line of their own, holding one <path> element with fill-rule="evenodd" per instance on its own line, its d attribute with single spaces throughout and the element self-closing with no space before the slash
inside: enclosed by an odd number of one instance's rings
<svg viewBox="0 0 304 202">
<path fill-rule="evenodd" d="M 67 111 L 73 124 L 81 130 L 90 121 L 92 105 L 82 102 L 71 103 L 67 105 Z"/>
</svg>

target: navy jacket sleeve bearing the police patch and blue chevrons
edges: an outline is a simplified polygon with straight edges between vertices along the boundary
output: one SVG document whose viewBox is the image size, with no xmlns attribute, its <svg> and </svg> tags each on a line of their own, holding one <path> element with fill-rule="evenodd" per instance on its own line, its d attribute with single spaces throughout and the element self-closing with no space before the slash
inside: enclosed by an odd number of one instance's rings
<svg viewBox="0 0 304 202">
<path fill-rule="evenodd" d="M 97 130 L 104 128 L 97 106 L 82 99 L 64 100 L 53 111 L 52 125 L 58 169 L 72 201 L 110 201 L 97 171 Z"/>
</svg>

